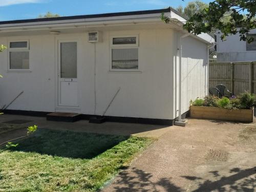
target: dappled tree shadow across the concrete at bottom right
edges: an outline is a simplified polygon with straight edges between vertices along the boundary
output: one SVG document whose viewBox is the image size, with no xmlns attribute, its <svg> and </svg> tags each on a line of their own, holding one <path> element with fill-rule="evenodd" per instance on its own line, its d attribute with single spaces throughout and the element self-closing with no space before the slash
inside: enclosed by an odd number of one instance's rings
<svg viewBox="0 0 256 192">
<path fill-rule="evenodd" d="M 112 191 L 248 191 L 253 192 L 256 186 L 256 167 L 248 169 L 233 168 L 229 176 L 221 176 L 218 171 L 209 172 L 217 179 L 205 180 L 196 176 L 182 176 L 193 182 L 193 189 L 183 189 L 172 182 L 172 178 L 155 180 L 151 173 L 141 169 L 128 168 L 119 174 Z M 153 181 L 154 179 L 154 181 Z M 191 185 L 191 184 L 190 184 Z M 192 186 L 193 186 L 192 185 Z M 103 189 L 104 191 L 104 189 Z M 108 190 L 106 190 L 108 191 Z"/>
</svg>

